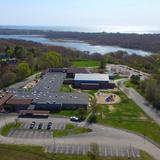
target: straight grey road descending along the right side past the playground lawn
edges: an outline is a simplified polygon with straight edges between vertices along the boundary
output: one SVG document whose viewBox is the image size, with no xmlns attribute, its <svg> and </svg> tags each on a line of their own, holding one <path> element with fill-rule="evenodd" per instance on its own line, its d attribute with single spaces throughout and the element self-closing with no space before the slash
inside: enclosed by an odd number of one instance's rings
<svg viewBox="0 0 160 160">
<path fill-rule="evenodd" d="M 131 98 L 149 117 L 160 125 L 160 112 L 156 111 L 153 106 L 145 100 L 137 91 L 133 88 L 127 88 L 124 86 L 124 82 L 127 79 L 120 80 L 118 83 L 119 88 Z"/>
</svg>

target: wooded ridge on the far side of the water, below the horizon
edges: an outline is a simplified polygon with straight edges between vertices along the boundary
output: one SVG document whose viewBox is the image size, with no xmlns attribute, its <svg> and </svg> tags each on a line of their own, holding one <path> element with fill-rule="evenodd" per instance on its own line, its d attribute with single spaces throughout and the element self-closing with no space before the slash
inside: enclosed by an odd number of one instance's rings
<svg viewBox="0 0 160 160">
<path fill-rule="evenodd" d="M 160 34 L 55 32 L 23 29 L 0 29 L 1 35 L 43 35 L 47 38 L 83 40 L 91 44 L 120 46 L 160 53 Z"/>
</svg>

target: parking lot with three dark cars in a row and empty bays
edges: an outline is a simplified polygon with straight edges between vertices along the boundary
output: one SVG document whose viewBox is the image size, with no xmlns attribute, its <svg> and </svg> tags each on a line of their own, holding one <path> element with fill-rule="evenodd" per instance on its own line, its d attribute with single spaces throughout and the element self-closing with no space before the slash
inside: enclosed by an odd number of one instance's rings
<svg viewBox="0 0 160 160">
<path fill-rule="evenodd" d="M 59 118 L 49 119 L 20 119 L 21 126 L 18 129 L 12 129 L 8 134 L 8 137 L 15 138 L 52 138 L 54 130 L 65 129 L 67 120 Z M 31 125 L 33 124 L 34 125 Z M 48 124 L 50 128 L 48 128 Z M 41 127 L 39 127 L 41 124 Z M 32 127 L 31 127 L 32 126 Z"/>
</svg>

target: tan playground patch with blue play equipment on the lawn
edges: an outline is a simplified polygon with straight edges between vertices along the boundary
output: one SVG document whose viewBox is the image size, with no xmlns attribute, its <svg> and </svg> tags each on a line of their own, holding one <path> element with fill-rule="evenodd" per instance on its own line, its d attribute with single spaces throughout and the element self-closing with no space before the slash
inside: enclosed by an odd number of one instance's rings
<svg viewBox="0 0 160 160">
<path fill-rule="evenodd" d="M 117 104 L 120 103 L 121 99 L 118 95 L 113 93 L 99 92 L 96 94 L 97 104 Z"/>
</svg>

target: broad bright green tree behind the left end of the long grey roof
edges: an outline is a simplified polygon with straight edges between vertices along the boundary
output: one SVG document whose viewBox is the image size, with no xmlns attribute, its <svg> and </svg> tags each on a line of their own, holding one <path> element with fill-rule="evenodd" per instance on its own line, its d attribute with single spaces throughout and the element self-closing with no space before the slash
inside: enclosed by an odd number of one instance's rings
<svg viewBox="0 0 160 160">
<path fill-rule="evenodd" d="M 62 56 L 57 52 L 44 54 L 41 58 L 41 67 L 43 69 L 62 67 Z"/>
</svg>

